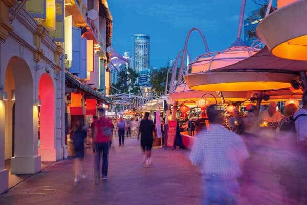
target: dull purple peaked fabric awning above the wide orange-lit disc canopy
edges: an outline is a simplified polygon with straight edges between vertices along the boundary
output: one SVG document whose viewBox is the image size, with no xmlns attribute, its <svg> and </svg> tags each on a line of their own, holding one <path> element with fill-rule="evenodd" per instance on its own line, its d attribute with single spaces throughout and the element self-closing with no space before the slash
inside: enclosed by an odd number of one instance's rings
<svg viewBox="0 0 307 205">
<path fill-rule="evenodd" d="M 306 70 L 306 68 L 306 61 L 287 60 L 276 57 L 272 55 L 268 47 L 265 46 L 258 53 L 245 60 L 215 70 L 273 70 L 297 72 Z"/>
</svg>

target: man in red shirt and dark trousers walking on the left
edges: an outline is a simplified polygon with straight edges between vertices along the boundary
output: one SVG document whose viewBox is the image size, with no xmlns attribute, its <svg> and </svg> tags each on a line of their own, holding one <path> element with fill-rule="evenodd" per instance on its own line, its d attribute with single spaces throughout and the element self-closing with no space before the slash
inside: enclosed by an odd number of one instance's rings
<svg viewBox="0 0 307 205">
<path fill-rule="evenodd" d="M 99 167 L 102 155 L 102 179 L 106 180 L 108 167 L 108 152 L 112 142 L 112 124 L 105 118 L 103 108 L 98 108 L 100 119 L 94 125 L 94 139 L 96 143 L 96 153 L 94 162 L 95 184 L 97 185 L 100 178 Z"/>
</svg>

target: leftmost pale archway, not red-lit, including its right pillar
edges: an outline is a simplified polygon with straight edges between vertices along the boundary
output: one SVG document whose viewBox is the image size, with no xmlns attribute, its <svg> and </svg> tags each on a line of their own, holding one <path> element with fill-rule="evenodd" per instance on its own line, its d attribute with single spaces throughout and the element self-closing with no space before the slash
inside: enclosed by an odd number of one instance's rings
<svg viewBox="0 0 307 205">
<path fill-rule="evenodd" d="M 8 93 L 8 100 L 4 101 L 5 159 L 11 158 L 12 174 L 36 173 L 41 170 L 37 149 L 38 108 L 32 73 L 23 59 L 12 57 L 9 60 L 5 82 Z"/>
</svg>

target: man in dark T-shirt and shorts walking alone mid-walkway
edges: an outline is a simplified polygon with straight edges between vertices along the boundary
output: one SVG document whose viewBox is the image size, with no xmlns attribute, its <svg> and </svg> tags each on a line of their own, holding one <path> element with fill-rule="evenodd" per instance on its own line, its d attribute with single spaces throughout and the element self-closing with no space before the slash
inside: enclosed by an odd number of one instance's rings
<svg viewBox="0 0 307 205">
<path fill-rule="evenodd" d="M 151 163 L 151 149 L 153 144 L 153 132 L 156 132 L 155 124 L 149 119 L 149 112 L 145 113 L 144 119 L 140 122 L 138 140 L 141 134 L 141 147 L 143 149 L 145 167 Z"/>
</svg>

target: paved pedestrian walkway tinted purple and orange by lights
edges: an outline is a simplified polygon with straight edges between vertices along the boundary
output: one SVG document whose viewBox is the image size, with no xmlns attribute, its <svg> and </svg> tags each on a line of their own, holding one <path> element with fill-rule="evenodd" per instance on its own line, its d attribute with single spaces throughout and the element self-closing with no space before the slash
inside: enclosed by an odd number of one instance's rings
<svg viewBox="0 0 307 205">
<path fill-rule="evenodd" d="M 200 204 L 200 174 L 187 159 L 188 151 L 155 149 L 151 167 L 144 168 L 136 139 L 125 140 L 125 147 L 116 145 L 107 181 L 94 185 L 89 150 L 89 177 L 77 186 L 72 160 L 61 160 L 0 195 L 0 204 Z"/>
</svg>

